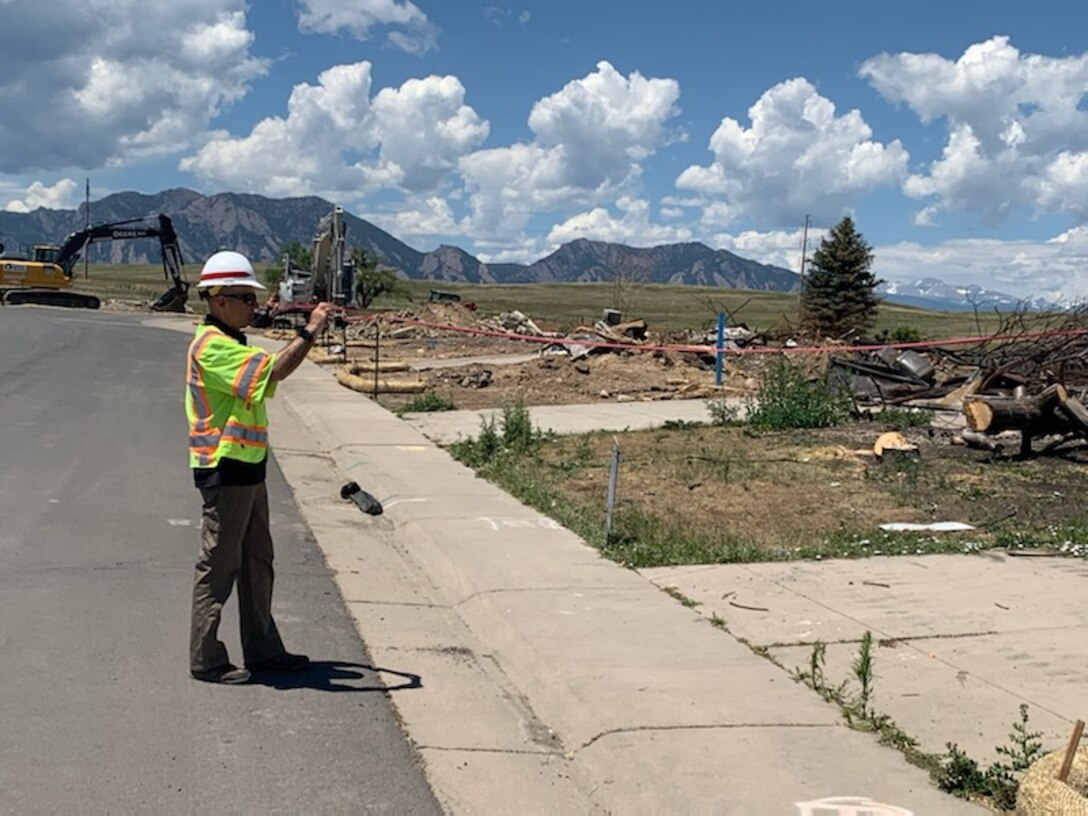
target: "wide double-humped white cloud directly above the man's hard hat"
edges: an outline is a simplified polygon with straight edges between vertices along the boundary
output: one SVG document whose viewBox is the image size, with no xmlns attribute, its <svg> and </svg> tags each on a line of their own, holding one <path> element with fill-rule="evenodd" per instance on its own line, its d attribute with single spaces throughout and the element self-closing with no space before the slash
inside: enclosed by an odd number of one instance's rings
<svg viewBox="0 0 1088 816">
<path fill-rule="evenodd" d="M 247 136 L 217 134 L 181 168 L 270 196 L 421 194 L 441 186 L 487 136 L 456 77 L 409 79 L 373 99 L 370 89 L 369 62 L 335 65 L 317 85 L 295 86 L 286 116 L 262 120 Z"/>
</svg>

